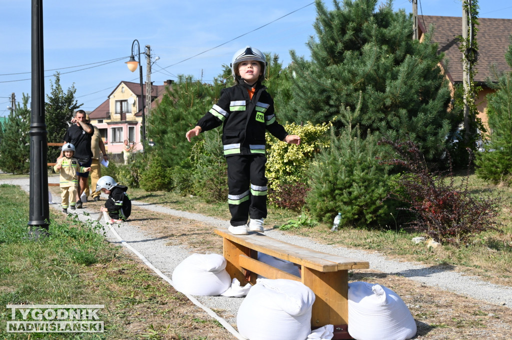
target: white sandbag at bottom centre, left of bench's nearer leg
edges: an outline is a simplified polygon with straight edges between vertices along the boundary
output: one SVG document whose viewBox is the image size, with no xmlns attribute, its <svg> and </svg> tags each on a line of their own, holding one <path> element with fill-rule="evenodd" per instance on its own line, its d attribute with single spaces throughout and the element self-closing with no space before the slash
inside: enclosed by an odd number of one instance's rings
<svg viewBox="0 0 512 340">
<path fill-rule="evenodd" d="M 301 282 L 258 279 L 237 314 L 249 340 L 305 340 L 311 333 L 313 291 Z"/>
</svg>

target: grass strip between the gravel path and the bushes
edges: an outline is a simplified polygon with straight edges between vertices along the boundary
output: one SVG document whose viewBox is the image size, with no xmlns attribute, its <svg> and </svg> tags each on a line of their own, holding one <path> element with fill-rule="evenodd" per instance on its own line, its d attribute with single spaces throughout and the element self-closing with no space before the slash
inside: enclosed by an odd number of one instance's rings
<svg viewBox="0 0 512 340">
<path fill-rule="evenodd" d="M 456 176 L 456 184 L 464 175 Z M 501 197 L 499 216 L 501 232 L 489 231 L 477 235 L 472 242 L 463 246 L 446 245 L 436 249 L 427 248 L 424 243 L 414 244 L 411 239 L 422 236 L 404 225 L 381 225 L 376 229 L 355 228 L 345 225 L 338 232 L 331 232 L 331 225 L 319 223 L 294 223 L 300 228 L 288 228 L 295 233 L 328 244 L 374 250 L 390 257 L 406 261 L 419 261 L 430 265 L 458 266 L 457 270 L 478 275 L 490 282 L 512 286 L 512 190 L 508 187 L 485 183 L 475 175 L 469 177 L 468 189 L 475 195 Z M 133 199 L 163 205 L 168 208 L 188 212 L 201 212 L 204 215 L 229 220 L 226 203 L 206 203 L 201 197 L 182 197 L 172 192 L 148 193 L 142 189 L 130 189 Z M 301 213 L 268 207 L 266 225 L 279 228 L 289 220 L 298 220 Z M 304 218 L 304 216 L 302 217 Z M 293 223 L 292 223 L 293 224 Z"/>
</svg>

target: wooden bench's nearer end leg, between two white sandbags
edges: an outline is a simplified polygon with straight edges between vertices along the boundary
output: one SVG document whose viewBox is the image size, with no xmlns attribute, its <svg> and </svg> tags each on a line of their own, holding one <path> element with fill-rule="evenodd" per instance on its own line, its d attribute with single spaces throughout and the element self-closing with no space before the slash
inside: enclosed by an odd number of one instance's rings
<svg viewBox="0 0 512 340">
<path fill-rule="evenodd" d="M 348 270 L 329 273 L 302 266 L 302 283 L 315 292 L 311 327 L 348 324 Z"/>
</svg>

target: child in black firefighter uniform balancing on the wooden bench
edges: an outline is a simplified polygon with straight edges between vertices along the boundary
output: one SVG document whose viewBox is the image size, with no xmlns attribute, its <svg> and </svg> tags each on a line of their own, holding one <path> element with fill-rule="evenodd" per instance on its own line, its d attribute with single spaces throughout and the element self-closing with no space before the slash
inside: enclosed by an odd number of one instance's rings
<svg viewBox="0 0 512 340">
<path fill-rule="evenodd" d="M 261 84 L 266 66 L 265 55 L 260 50 L 246 46 L 237 51 L 231 60 L 235 85 L 223 89 L 219 102 L 185 134 L 190 142 L 200 132 L 223 125 L 231 213 L 228 230 L 235 235 L 247 235 L 247 229 L 264 231 L 263 219 L 267 217 L 265 131 L 283 142 L 301 143 L 300 137 L 288 134 L 276 121 L 272 97 Z"/>
</svg>

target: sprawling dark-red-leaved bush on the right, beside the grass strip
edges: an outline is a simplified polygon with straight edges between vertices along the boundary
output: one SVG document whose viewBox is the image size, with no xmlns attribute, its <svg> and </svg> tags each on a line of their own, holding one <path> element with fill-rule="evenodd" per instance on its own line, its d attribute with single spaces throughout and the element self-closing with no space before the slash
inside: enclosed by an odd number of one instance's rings
<svg viewBox="0 0 512 340">
<path fill-rule="evenodd" d="M 451 244 L 463 244 L 484 231 L 499 230 L 496 221 L 499 199 L 471 193 L 467 188 L 469 173 L 456 186 L 451 162 L 449 171 L 431 172 L 412 141 L 383 139 L 379 144 L 391 146 L 398 155 L 381 163 L 405 169 L 397 190 L 388 198 L 406 203 L 407 208 L 399 209 L 413 214 L 410 223 L 414 228 L 440 243 Z"/>
</svg>

